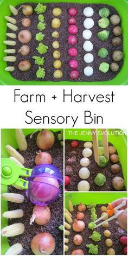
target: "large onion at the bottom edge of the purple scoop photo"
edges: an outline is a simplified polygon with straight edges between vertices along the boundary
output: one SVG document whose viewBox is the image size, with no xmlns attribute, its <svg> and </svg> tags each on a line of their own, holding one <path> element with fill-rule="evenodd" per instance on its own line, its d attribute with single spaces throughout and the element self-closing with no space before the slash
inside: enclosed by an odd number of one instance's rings
<svg viewBox="0 0 128 256">
<path fill-rule="evenodd" d="M 31 250 L 35 255 L 49 255 L 54 252 L 55 240 L 49 233 L 41 233 L 31 240 Z"/>
</svg>

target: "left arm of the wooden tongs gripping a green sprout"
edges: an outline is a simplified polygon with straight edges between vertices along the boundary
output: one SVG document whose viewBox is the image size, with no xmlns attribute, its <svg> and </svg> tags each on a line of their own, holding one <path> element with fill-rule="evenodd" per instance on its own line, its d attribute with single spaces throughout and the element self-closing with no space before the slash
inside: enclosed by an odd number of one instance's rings
<svg viewBox="0 0 128 256">
<path fill-rule="evenodd" d="M 92 129 L 92 140 L 93 140 L 95 162 L 99 165 L 100 163 L 99 162 L 99 143 L 98 143 L 97 129 Z"/>
</svg>

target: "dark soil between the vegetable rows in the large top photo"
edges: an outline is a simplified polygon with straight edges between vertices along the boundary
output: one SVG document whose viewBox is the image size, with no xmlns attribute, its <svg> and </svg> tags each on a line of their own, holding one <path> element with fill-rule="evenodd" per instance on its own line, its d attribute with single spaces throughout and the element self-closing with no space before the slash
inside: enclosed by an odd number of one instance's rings
<svg viewBox="0 0 128 256">
<path fill-rule="evenodd" d="M 30 4 L 30 3 L 29 3 Z M 33 8 L 36 7 L 36 4 L 31 3 L 31 5 L 33 6 Z M 112 61 L 112 53 L 114 50 L 123 50 L 123 43 L 121 44 L 121 46 L 119 47 L 113 47 L 111 41 L 112 38 L 114 37 L 112 30 L 113 30 L 113 25 L 110 24 L 107 28 L 107 30 L 110 31 L 110 37 L 108 39 L 107 42 L 101 42 L 98 37 L 97 34 L 99 31 L 103 30 L 98 26 L 98 20 L 100 19 L 99 16 L 99 10 L 103 7 L 108 7 L 110 9 L 110 16 L 113 14 L 118 14 L 117 10 L 114 9 L 113 7 L 106 5 L 106 4 L 77 4 L 77 3 L 52 3 L 52 4 L 46 4 L 47 5 L 47 11 L 44 12 L 44 22 L 46 23 L 46 29 L 44 30 L 44 40 L 43 43 L 46 44 L 49 47 L 49 50 L 46 54 L 44 54 L 44 57 L 46 59 L 46 62 L 44 63 L 44 69 L 46 70 L 46 77 L 43 79 L 43 81 L 73 81 L 69 78 L 69 60 L 71 59 L 70 56 L 68 56 L 68 49 L 69 49 L 69 44 L 68 44 L 68 18 L 69 18 L 69 14 L 68 14 L 68 9 L 71 7 L 76 7 L 78 10 L 78 14 L 76 15 L 76 19 L 77 19 L 77 23 L 76 25 L 78 25 L 79 28 L 79 32 L 77 34 L 77 38 L 78 38 L 78 43 L 75 45 L 76 48 L 78 48 L 79 50 L 79 54 L 78 56 L 76 56 L 76 60 L 79 62 L 79 68 L 78 71 L 80 72 L 80 76 L 78 78 L 78 80 L 75 81 L 107 81 L 107 80 L 112 80 L 119 72 L 121 67 L 123 66 L 123 60 L 119 62 L 119 71 L 118 72 L 112 72 L 111 70 L 109 70 L 106 74 L 103 72 L 100 72 L 98 67 L 100 65 L 101 62 L 107 62 L 107 63 L 111 63 Z M 94 73 L 92 76 L 85 76 L 84 75 L 84 68 L 86 66 L 88 66 L 87 63 L 85 63 L 84 61 L 84 55 L 85 55 L 85 50 L 83 49 L 83 44 L 85 42 L 85 39 L 82 37 L 82 32 L 85 30 L 84 28 L 84 20 L 85 20 L 85 16 L 83 14 L 83 10 L 85 7 L 91 6 L 94 9 L 94 15 L 92 16 L 93 20 L 94 20 L 94 27 L 91 29 L 92 31 L 92 37 L 91 37 L 91 42 L 93 43 L 93 50 L 92 50 L 92 54 L 94 55 L 94 61 L 92 63 L 89 64 L 89 66 L 93 67 L 94 69 Z M 21 5 L 18 5 L 17 8 L 21 7 Z M 53 48 L 52 48 L 52 43 L 54 41 L 54 39 L 52 38 L 52 33 L 53 31 L 55 31 L 55 29 L 52 28 L 51 26 L 51 22 L 52 19 L 54 18 L 53 14 L 52 14 L 52 10 L 55 7 L 60 7 L 62 12 L 61 15 L 59 16 L 59 18 L 61 19 L 61 27 L 59 29 L 57 29 L 57 31 L 59 31 L 60 33 L 60 37 L 59 37 L 59 43 L 60 43 L 60 52 L 61 52 L 61 62 L 62 62 L 62 67 L 61 67 L 61 71 L 63 72 L 63 77 L 61 79 L 55 79 L 53 76 L 53 73 L 55 71 L 55 69 L 53 68 L 53 62 L 54 62 L 54 58 L 53 58 Z M 12 15 L 13 17 L 13 15 Z M 21 20 L 22 18 L 24 18 L 25 16 L 22 13 L 22 9 L 20 9 L 18 11 L 18 16 L 15 18 L 17 18 L 17 26 L 18 26 L 18 30 L 16 31 L 16 34 L 18 35 L 19 31 L 24 29 L 21 25 Z M 9 66 L 14 66 L 15 65 L 15 71 L 12 72 L 12 76 L 17 79 L 17 80 L 23 80 L 23 81 L 29 81 L 29 80 L 39 80 L 42 81 L 42 79 L 37 79 L 36 78 L 36 71 L 38 69 L 37 65 L 34 64 L 34 59 L 32 59 L 31 57 L 34 55 L 39 55 L 40 54 L 37 52 L 36 47 L 38 46 L 39 42 L 35 40 L 35 35 L 37 32 L 39 32 L 39 30 L 37 31 L 37 23 L 38 21 L 38 15 L 36 14 L 36 12 L 34 11 L 32 16 L 29 16 L 32 24 L 29 28 L 27 28 L 28 30 L 31 31 L 32 35 L 33 35 L 33 40 L 31 40 L 31 42 L 28 43 L 28 46 L 30 47 L 30 55 L 23 57 L 21 56 L 21 54 L 18 53 L 18 50 L 21 48 L 22 44 L 20 42 L 18 42 L 17 40 L 17 44 L 16 44 L 16 58 L 17 61 L 14 63 L 8 63 Z M 121 25 L 121 24 L 120 24 Z M 26 29 L 26 28 L 25 28 Z M 8 29 L 8 33 L 11 33 L 12 31 L 10 29 Z M 120 36 L 120 38 L 123 40 L 123 36 Z M 7 38 L 8 40 L 10 40 L 9 38 Z M 108 49 L 109 55 L 105 58 L 105 59 L 101 59 L 97 52 L 101 47 L 106 47 Z M 8 47 L 8 48 L 12 48 L 12 47 Z M 31 61 L 31 69 L 27 72 L 21 72 L 18 69 L 18 63 L 22 60 L 30 60 Z"/>
</svg>

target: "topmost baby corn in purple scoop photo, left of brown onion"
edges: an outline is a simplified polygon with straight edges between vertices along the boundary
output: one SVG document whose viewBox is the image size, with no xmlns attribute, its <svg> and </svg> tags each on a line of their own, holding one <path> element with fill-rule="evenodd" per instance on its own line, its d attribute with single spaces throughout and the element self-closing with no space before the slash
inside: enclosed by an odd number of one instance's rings
<svg viewBox="0 0 128 256">
<path fill-rule="evenodd" d="M 15 129 L 15 132 L 16 132 L 16 140 L 18 143 L 18 148 L 23 151 L 27 150 L 28 145 L 22 129 Z"/>
</svg>

